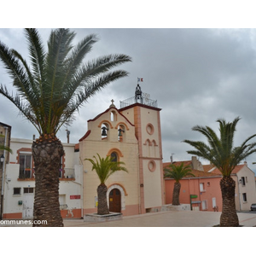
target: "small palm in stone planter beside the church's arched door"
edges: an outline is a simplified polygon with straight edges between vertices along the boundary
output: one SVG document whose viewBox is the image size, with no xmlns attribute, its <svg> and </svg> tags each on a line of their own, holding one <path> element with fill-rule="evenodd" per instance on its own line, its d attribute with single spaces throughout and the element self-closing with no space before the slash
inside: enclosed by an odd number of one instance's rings
<svg viewBox="0 0 256 256">
<path fill-rule="evenodd" d="M 108 202 L 107 202 L 107 192 L 108 188 L 106 186 L 106 181 L 110 175 L 117 171 L 125 171 L 126 168 L 121 165 L 125 165 L 124 162 L 114 161 L 110 155 L 106 158 L 101 158 L 99 154 L 97 154 L 98 159 L 96 156 L 93 156 L 95 160 L 92 159 L 85 159 L 89 160 L 92 164 L 91 171 L 95 170 L 97 176 L 100 179 L 100 185 L 97 187 L 97 195 L 98 195 L 98 207 L 97 207 L 97 214 L 104 215 L 109 213 L 108 209 Z"/>
</svg>

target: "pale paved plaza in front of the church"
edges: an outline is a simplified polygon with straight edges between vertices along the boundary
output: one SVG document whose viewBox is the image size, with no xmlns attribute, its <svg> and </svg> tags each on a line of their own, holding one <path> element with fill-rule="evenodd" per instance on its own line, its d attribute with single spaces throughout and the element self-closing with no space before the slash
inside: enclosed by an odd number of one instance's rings
<svg viewBox="0 0 256 256">
<path fill-rule="evenodd" d="M 219 224 L 221 212 L 168 211 L 123 217 L 101 223 L 83 219 L 64 219 L 65 227 L 213 227 Z M 237 213 L 242 227 L 256 226 L 256 214 Z"/>
</svg>

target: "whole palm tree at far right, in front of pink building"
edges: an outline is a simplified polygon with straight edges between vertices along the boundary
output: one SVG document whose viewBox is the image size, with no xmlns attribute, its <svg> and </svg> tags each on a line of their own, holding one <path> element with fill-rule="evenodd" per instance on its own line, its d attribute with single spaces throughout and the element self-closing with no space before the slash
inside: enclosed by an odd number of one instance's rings
<svg viewBox="0 0 256 256">
<path fill-rule="evenodd" d="M 183 141 L 184 143 L 189 143 L 189 145 L 196 149 L 187 151 L 189 154 L 195 154 L 209 160 L 223 175 L 220 181 L 223 200 L 223 212 L 220 217 L 220 226 L 239 225 L 235 205 L 236 183 L 230 175 L 241 160 L 244 160 L 248 155 L 256 152 L 256 143 L 247 144 L 256 134 L 248 137 L 241 143 L 241 146 L 234 147 L 236 124 L 239 120 L 240 118 L 237 117 L 233 122 L 227 123 L 224 119 L 218 119 L 219 137 L 208 126 L 196 125 L 192 128 L 193 131 L 199 131 L 207 137 L 208 145 L 203 142 Z"/>
</svg>

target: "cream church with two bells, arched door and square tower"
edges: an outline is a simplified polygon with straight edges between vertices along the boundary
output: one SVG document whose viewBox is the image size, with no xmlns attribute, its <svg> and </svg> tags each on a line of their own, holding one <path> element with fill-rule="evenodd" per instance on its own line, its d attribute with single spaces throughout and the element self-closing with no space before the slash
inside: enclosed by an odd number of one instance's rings
<svg viewBox="0 0 256 256">
<path fill-rule="evenodd" d="M 127 172 L 108 177 L 108 207 L 123 216 L 158 212 L 165 204 L 162 167 L 160 108 L 148 98 L 139 84 L 135 96 L 120 102 L 111 101 L 109 108 L 88 120 L 88 130 L 79 140 L 79 156 L 83 162 L 84 214 L 96 212 L 96 188 L 100 180 L 91 172 L 91 163 L 84 161 L 99 154 L 111 155 L 125 162 Z"/>
</svg>

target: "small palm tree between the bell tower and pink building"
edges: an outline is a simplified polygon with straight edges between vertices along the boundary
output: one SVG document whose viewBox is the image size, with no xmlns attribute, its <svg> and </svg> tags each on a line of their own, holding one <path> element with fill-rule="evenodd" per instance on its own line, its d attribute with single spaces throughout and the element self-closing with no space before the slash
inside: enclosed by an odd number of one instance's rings
<svg viewBox="0 0 256 256">
<path fill-rule="evenodd" d="M 169 165 L 164 169 L 165 177 L 170 177 L 175 180 L 173 186 L 173 193 L 172 193 L 172 205 L 179 206 L 179 192 L 181 188 L 181 183 L 179 182 L 183 177 L 186 176 L 195 176 L 190 169 L 190 166 L 184 166 L 184 163 L 181 163 L 179 166 L 174 164 Z"/>
</svg>

